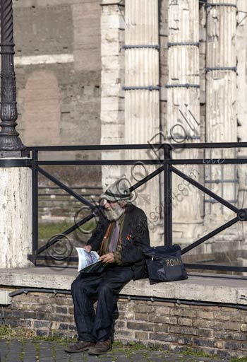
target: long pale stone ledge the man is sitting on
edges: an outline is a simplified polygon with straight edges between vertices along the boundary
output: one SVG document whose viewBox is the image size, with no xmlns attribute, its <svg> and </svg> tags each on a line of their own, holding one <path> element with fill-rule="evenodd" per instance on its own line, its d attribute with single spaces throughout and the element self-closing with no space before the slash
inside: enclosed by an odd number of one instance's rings
<svg viewBox="0 0 247 362">
<path fill-rule="evenodd" d="M 32 267 L 0 269 L 2 286 L 52 288 L 70 290 L 78 275 L 76 269 Z M 239 276 L 189 274 L 185 281 L 159 283 L 150 286 L 148 279 L 130 281 L 121 294 L 212 303 L 247 305 L 246 278 Z"/>
</svg>

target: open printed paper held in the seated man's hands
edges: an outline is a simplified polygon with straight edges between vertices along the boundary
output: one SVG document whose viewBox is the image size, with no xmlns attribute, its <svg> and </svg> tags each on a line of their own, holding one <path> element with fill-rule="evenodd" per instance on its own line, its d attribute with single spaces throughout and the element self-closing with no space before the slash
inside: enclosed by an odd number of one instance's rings
<svg viewBox="0 0 247 362">
<path fill-rule="evenodd" d="M 100 255 L 97 252 L 87 252 L 83 247 L 76 247 L 78 252 L 78 271 L 83 273 L 100 273 L 104 270 L 104 264 L 98 260 Z"/>
</svg>

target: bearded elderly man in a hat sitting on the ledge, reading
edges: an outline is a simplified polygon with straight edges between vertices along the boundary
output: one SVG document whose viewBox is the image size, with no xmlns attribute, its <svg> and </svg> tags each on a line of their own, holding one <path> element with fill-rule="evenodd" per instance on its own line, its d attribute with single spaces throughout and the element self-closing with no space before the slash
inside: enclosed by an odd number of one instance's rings
<svg viewBox="0 0 247 362">
<path fill-rule="evenodd" d="M 89 350 L 89 354 L 99 355 L 112 349 L 116 294 L 131 279 L 147 277 L 143 255 L 143 249 L 150 246 L 147 217 L 131 204 L 132 197 L 124 180 L 114 182 L 100 197 L 104 212 L 85 250 L 100 251 L 100 260 L 107 267 L 102 273 L 80 273 L 73 281 L 78 341 L 68 346 L 67 352 Z"/>
</svg>

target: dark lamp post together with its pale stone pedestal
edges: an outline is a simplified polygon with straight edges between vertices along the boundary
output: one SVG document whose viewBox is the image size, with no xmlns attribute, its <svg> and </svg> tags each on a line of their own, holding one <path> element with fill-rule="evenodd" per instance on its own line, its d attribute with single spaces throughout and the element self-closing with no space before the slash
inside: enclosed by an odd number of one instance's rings
<svg viewBox="0 0 247 362">
<path fill-rule="evenodd" d="M 32 252 L 32 170 L 26 164 L 28 153 L 16 131 L 12 0 L 0 0 L 0 6 L 0 266 L 24 268 L 30 266 L 27 256 Z"/>
</svg>

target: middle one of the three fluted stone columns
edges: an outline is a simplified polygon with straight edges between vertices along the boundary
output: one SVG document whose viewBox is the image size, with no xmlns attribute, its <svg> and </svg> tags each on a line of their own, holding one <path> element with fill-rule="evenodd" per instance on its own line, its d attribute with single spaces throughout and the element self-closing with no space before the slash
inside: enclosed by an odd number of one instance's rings
<svg viewBox="0 0 247 362">
<path fill-rule="evenodd" d="M 200 142 L 198 0 L 169 1 L 167 136 L 172 143 Z M 174 158 L 198 158 L 197 150 L 176 151 Z M 175 166 L 200 181 L 197 165 Z M 202 223 L 198 189 L 173 176 L 174 240 L 191 242 Z"/>
</svg>

